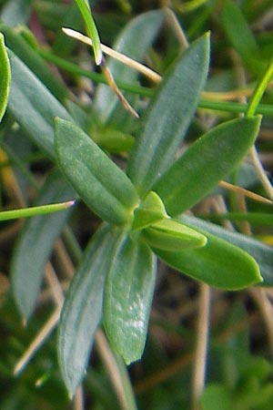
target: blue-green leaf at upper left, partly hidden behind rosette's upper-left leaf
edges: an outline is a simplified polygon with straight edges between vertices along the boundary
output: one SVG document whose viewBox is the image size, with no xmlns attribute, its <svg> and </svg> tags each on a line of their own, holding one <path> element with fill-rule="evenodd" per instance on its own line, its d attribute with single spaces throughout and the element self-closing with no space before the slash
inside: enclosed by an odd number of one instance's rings
<svg viewBox="0 0 273 410">
<path fill-rule="evenodd" d="M 8 110 L 35 144 L 54 158 L 54 118 L 71 118 L 32 71 L 14 53 L 8 54 L 12 72 Z"/>
</svg>

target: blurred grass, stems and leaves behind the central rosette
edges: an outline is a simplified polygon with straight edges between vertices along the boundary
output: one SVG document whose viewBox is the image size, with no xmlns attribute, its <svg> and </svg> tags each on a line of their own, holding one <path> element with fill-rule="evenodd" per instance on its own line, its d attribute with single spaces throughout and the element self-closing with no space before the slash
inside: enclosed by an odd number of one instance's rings
<svg viewBox="0 0 273 410">
<path fill-rule="evenodd" d="M 130 47 L 136 60 L 162 76 L 187 42 L 211 32 L 209 75 L 187 131 L 187 146 L 217 124 L 246 112 L 248 98 L 272 67 L 271 1 L 102 0 L 90 5 L 101 41 L 107 46 L 114 46 L 120 33 L 122 43 L 126 38 L 122 30 L 137 15 L 161 9 L 164 21 L 149 15 L 143 18 L 142 30 L 132 36 Z M 20 59 L 12 66 L 10 96 L 0 128 L 2 210 L 70 200 L 75 191 L 64 188 L 52 151 L 53 119 L 66 118 L 69 112 L 121 168 L 139 120 L 121 104 L 116 105 L 112 91 L 102 88 L 106 77 L 96 67 L 92 49 L 62 32 L 64 26 L 85 32 L 76 2 L 6 0 L 0 6 L 0 31 L 8 56 Z M 145 75 L 136 77 L 135 72 L 127 74 L 124 66 L 115 68 L 112 64 L 107 63 L 117 85 L 142 115 L 157 87 L 155 82 Z M 270 78 L 266 86 L 256 110 L 263 115 L 258 153 L 252 150 L 240 175 L 234 172 L 227 181 L 248 192 L 221 184 L 191 212 L 267 245 L 262 262 L 269 272 L 268 286 L 238 292 L 217 290 L 159 262 L 143 358 L 126 369 L 99 331 L 83 384 L 71 401 L 56 354 L 58 302 L 62 303 L 62 292 L 68 288 L 100 219 L 78 200 L 76 207 L 38 222 L 2 221 L 1 409 L 272 408 Z M 99 93 L 105 93 L 104 97 L 97 97 Z M 15 303 L 15 278 L 21 278 L 18 286 L 25 287 L 27 294 L 36 284 L 25 278 L 29 272 L 35 278 L 35 272 L 44 271 L 45 263 L 43 289 L 24 326 L 20 312 L 27 317 L 34 306 L 30 300 L 23 306 L 18 299 Z"/>
</svg>

